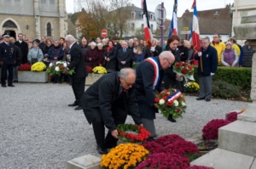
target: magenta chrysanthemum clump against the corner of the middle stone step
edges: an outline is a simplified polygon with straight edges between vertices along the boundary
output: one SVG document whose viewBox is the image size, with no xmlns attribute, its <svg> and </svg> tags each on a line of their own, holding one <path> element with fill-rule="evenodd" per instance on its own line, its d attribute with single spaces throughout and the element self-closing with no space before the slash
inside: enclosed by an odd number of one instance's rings
<svg viewBox="0 0 256 169">
<path fill-rule="evenodd" d="M 218 128 L 224 127 L 227 124 L 230 124 L 231 121 L 224 119 L 213 119 L 209 121 L 206 126 L 203 127 L 202 137 L 205 139 L 218 139 Z"/>
</svg>

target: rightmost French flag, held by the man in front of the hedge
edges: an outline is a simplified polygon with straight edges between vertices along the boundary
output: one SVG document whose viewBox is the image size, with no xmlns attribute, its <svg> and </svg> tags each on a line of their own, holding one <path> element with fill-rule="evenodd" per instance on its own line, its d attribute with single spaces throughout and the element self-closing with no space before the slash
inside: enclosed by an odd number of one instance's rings
<svg viewBox="0 0 256 169">
<path fill-rule="evenodd" d="M 201 52 L 201 43 L 200 43 L 200 31 L 198 23 L 198 14 L 196 9 L 196 2 L 192 5 L 194 8 L 194 14 L 191 22 L 191 32 L 189 35 L 189 41 L 192 42 L 192 46 L 195 49 L 195 53 Z M 198 65 L 198 60 L 193 59 L 193 65 Z"/>
</svg>

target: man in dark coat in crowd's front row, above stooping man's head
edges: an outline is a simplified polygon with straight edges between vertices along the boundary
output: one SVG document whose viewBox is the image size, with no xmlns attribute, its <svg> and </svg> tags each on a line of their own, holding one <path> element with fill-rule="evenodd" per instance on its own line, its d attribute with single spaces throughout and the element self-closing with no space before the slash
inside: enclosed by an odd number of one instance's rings
<svg viewBox="0 0 256 169">
<path fill-rule="evenodd" d="M 127 42 L 122 42 L 122 48 L 118 50 L 118 63 L 119 70 L 125 67 L 131 67 L 132 64 L 132 52 L 131 49 L 127 48 Z"/>
</svg>

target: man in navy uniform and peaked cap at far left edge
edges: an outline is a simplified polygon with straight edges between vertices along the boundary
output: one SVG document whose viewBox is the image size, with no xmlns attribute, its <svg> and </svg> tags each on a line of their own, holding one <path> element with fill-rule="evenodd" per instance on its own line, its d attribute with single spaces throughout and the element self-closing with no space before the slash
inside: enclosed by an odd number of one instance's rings
<svg viewBox="0 0 256 169">
<path fill-rule="evenodd" d="M 13 85 L 13 69 L 16 62 L 15 46 L 9 43 L 9 34 L 3 34 L 3 42 L 0 44 L 0 65 L 2 66 L 1 72 L 1 85 L 6 87 L 5 79 L 7 78 L 8 70 L 8 86 L 15 87 Z"/>
</svg>

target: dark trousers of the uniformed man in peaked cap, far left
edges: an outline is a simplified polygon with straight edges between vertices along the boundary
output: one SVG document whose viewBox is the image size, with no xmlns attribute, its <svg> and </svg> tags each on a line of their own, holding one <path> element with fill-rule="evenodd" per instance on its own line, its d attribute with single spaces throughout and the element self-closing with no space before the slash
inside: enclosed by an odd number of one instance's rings
<svg viewBox="0 0 256 169">
<path fill-rule="evenodd" d="M 13 77 L 14 77 L 14 65 L 3 65 L 2 72 L 1 72 L 1 84 L 5 84 L 5 79 L 7 78 L 7 71 L 8 71 L 8 85 L 13 84 Z"/>
</svg>

